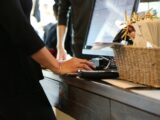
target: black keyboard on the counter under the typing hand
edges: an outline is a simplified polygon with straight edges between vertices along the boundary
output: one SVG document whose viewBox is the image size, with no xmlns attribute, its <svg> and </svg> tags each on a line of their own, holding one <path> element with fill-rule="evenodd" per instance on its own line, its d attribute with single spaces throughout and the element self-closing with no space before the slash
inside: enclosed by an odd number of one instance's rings
<svg viewBox="0 0 160 120">
<path fill-rule="evenodd" d="M 86 79 L 104 79 L 104 78 L 114 79 L 118 78 L 119 74 L 117 70 L 93 70 L 93 71 L 81 70 L 78 72 L 78 76 Z"/>
</svg>

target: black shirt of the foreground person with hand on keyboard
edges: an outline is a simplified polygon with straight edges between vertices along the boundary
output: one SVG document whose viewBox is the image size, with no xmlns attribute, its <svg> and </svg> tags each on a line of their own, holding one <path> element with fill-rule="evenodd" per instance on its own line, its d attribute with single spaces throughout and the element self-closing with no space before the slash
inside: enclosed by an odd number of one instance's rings
<svg viewBox="0 0 160 120">
<path fill-rule="evenodd" d="M 32 0 L 1 0 L 0 96 L 15 96 L 39 89 L 40 65 L 31 55 L 44 47 L 30 25 Z"/>
</svg>

